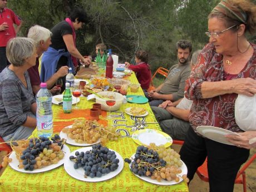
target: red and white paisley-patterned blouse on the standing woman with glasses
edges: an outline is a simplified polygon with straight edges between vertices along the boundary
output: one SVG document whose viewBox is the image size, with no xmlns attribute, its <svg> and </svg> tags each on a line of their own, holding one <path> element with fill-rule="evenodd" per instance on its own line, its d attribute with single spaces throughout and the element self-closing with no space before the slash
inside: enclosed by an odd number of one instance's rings
<svg viewBox="0 0 256 192">
<path fill-rule="evenodd" d="M 235 122 L 235 100 L 237 94 L 219 95 L 203 99 L 201 84 L 204 81 L 225 81 L 250 77 L 256 79 L 256 45 L 251 44 L 254 52 L 247 65 L 237 75 L 224 72 L 223 56 L 216 53 L 209 43 L 201 51 L 196 66 L 186 80 L 185 96 L 193 100 L 189 121 L 193 129 L 201 125 L 221 127 L 233 132 L 242 132 Z"/>
</svg>

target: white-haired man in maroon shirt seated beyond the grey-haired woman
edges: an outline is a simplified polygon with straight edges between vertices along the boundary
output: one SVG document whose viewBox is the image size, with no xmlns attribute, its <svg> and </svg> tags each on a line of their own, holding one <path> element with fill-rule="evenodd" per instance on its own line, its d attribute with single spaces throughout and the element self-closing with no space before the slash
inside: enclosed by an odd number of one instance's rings
<svg viewBox="0 0 256 192">
<path fill-rule="evenodd" d="M 48 47 L 51 45 L 51 35 L 52 32 L 49 29 L 38 25 L 29 28 L 28 31 L 28 37 L 32 38 L 36 42 L 36 50 L 38 55 L 36 65 L 28 69 L 32 90 L 35 95 L 40 90 L 41 83 L 40 73 L 38 70 L 39 58 L 41 57 L 42 53 L 47 51 Z M 67 73 L 68 67 L 62 66 L 48 81 L 46 81 L 47 88 L 52 92 L 52 94 L 59 93 L 61 91 L 60 87 L 54 85 L 58 78 L 67 75 Z"/>
</svg>

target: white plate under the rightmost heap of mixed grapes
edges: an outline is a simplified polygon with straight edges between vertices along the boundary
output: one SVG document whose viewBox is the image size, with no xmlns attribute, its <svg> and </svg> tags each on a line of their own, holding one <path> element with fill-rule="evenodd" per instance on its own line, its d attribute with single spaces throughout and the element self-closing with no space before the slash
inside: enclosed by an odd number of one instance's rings
<svg viewBox="0 0 256 192">
<path fill-rule="evenodd" d="M 134 154 L 135 155 L 135 154 Z M 134 159 L 135 156 L 132 155 L 131 158 Z M 183 181 L 183 178 L 181 178 L 182 175 L 184 174 L 187 174 L 188 173 L 188 168 L 186 168 L 186 165 L 184 164 L 184 162 L 182 161 L 183 165 L 181 165 L 179 168 L 181 169 L 181 173 L 179 174 L 180 175 L 180 180 L 178 182 L 174 181 L 174 180 L 171 180 L 171 181 L 168 181 L 168 180 L 165 180 L 165 179 L 161 179 L 161 182 L 157 181 L 156 179 L 151 179 L 150 176 L 139 176 L 137 174 L 134 174 L 136 175 L 138 178 L 144 180 L 144 181 L 147 181 L 149 183 L 152 183 L 152 184 L 156 184 L 156 185 L 175 185 L 175 184 L 178 184 L 180 183 L 181 181 Z M 65 166 L 65 163 L 64 163 L 64 166 Z M 130 163 L 130 168 L 131 168 L 131 163 Z"/>
</svg>

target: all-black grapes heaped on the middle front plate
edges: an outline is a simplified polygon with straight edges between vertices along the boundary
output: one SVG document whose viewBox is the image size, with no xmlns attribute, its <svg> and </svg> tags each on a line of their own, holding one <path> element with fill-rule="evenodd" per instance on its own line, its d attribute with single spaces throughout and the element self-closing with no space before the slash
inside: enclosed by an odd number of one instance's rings
<svg viewBox="0 0 256 192">
<path fill-rule="evenodd" d="M 115 151 L 109 150 L 101 144 L 92 145 L 92 149 L 86 152 L 75 152 L 75 156 L 70 156 L 70 160 L 75 162 L 74 168 L 83 168 L 85 176 L 100 178 L 102 175 L 115 171 L 119 166 L 119 159 L 116 158 Z"/>
</svg>

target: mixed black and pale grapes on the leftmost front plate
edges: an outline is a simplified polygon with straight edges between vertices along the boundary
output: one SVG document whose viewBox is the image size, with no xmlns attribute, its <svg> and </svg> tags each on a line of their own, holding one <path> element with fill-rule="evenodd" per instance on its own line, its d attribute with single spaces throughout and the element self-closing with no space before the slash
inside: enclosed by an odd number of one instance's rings
<svg viewBox="0 0 256 192">
<path fill-rule="evenodd" d="M 65 139 L 59 135 L 48 137 L 35 137 L 17 141 L 18 146 L 12 146 L 19 161 L 18 168 L 33 171 L 51 164 L 57 164 L 65 156 L 62 151 Z"/>
</svg>

